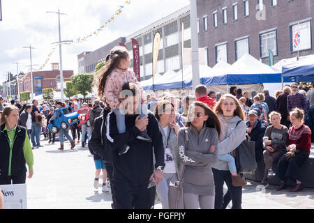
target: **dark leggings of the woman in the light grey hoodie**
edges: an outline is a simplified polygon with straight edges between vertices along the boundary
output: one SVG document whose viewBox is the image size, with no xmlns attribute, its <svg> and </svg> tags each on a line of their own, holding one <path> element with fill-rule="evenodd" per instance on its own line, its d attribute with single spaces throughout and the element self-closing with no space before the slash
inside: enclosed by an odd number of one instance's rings
<svg viewBox="0 0 314 223">
<path fill-rule="evenodd" d="M 241 209 L 242 203 L 242 187 L 232 186 L 232 178 L 230 171 L 214 169 L 215 182 L 215 209 L 224 209 L 227 207 L 230 199 L 232 200 L 232 209 Z M 227 184 L 228 191 L 223 196 L 223 183 Z"/>
</svg>

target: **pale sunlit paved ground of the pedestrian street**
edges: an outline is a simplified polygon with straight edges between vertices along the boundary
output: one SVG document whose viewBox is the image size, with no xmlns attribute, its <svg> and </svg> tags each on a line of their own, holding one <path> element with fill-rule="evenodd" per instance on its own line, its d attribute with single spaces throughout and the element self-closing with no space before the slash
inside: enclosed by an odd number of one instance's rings
<svg viewBox="0 0 314 223">
<path fill-rule="evenodd" d="M 88 148 L 77 144 L 70 151 L 65 142 L 65 150 L 57 151 L 59 142 L 33 150 L 34 175 L 27 179 L 27 204 L 29 209 L 111 209 L 111 194 L 94 189 L 94 160 Z M 102 176 L 100 175 L 100 178 Z M 101 183 L 101 180 L 100 180 Z M 258 183 L 250 182 L 243 190 L 244 209 L 313 208 L 314 189 L 290 193 L 288 190 L 276 192 L 277 186 L 267 190 L 256 190 Z M 160 209 L 159 202 L 156 209 Z"/>
</svg>

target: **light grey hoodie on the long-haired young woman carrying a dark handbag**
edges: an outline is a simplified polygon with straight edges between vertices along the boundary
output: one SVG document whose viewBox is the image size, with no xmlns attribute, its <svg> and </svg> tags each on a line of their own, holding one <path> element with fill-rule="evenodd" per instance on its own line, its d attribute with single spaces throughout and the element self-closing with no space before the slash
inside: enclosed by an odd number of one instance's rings
<svg viewBox="0 0 314 223">
<path fill-rule="evenodd" d="M 237 148 L 246 137 L 246 123 L 239 116 L 234 116 L 230 120 L 223 115 L 218 116 L 221 123 L 221 139 L 218 144 L 219 155 L 231 153 Z M 239 125 L 237 125 L 237 123 Z M 236 128 L 237 125 L 237 128 Z M 227 162 L 220 161 L 213 165 L 214 169 L 229 170 Z"/>
</svg>

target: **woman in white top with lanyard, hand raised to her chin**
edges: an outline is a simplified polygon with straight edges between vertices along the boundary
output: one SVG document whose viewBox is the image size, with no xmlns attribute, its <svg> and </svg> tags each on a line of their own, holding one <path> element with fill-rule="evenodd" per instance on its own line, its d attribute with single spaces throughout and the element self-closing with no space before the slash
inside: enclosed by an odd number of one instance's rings
<svg viewBox="0 0 314 223">
<path fill-rule="evenodd" d="M 174 105 L 167 100 L 161 100 L 155 107 L 155 116 L 158 120 L 160 132 L 163 135 L 163 144 L 165 147 L 163 180 L 156 186 L 156 192 L 163 209 L 169 209 L 168 188 L 170 182 L 174 183 L 178 180 L 178 162 L 174 148 L 177 146 L 179 125 L 174 122 L 174 114 Z"/>
</svg>

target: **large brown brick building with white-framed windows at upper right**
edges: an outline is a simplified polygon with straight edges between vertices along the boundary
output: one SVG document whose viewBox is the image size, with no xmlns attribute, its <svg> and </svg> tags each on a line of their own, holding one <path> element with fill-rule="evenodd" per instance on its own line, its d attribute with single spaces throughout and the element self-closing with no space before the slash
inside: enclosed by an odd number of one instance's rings
<svg viewBox="0 0 314 223">
<path fill-rule="evenodd" d="M 197 0 L 199 47 L 207 47 L 208 65 L 234 63 L 249 53 L 269 63 L 297 56 L 293 46 L 299 24 L 299 56 L 314 54 L 313 0 Z"/>
</svg>

